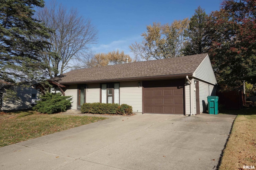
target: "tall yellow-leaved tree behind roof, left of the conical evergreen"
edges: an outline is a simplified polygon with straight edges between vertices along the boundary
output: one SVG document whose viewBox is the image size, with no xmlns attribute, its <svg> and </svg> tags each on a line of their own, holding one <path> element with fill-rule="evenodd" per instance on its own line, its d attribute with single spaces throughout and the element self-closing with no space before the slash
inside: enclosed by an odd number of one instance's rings
<svg viewBox="0 0 256 170">
<path fill-rule="evenodd" d="M 171 24 L 161 25 L 154 22 L 147 25 L 147 32 L 141 34 L 143 41 L 129 46 L 139 60 L 152 60 L 182 56 L 184 31 L 189 19 L 174 20 Z"/>
</svg>

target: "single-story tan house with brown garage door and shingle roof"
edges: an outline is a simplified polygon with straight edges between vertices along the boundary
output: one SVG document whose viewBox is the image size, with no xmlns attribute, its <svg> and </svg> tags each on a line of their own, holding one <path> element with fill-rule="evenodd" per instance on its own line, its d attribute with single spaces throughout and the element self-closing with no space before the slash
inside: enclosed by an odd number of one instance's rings
<svg viewBox="0 0 256 170">
<path fill-rule="evenodd" d="M 126 103 L 135 113 L 199 114 L 215 96 L 216 77 L 208 54 L 72 70 L 49 81 L 72 108 L 83 103 Z"/>
</svg>

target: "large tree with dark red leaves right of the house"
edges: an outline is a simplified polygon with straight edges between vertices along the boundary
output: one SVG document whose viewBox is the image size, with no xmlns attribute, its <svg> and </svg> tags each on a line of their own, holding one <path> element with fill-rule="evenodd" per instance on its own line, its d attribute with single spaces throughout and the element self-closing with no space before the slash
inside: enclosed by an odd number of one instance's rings
<svg viewBox="0 0 256 170">
<path fill-rule="evenodd" d="M 256 1 L 224 0 L 210 14 L 212 46 L 209 51 L 223 90 L 256 83 Z"/>
</svg>

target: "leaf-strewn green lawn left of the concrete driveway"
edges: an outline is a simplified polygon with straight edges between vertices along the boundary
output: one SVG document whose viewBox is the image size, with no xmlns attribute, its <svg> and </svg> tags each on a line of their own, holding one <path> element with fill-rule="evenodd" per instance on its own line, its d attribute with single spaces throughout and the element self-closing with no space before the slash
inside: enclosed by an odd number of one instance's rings
<svg viewBox="0 0 256 170">
<path fill-rule="evenodd" d="M 0 115 L 0 147 L 107 119 L 20 111 Z"/>
</svg>

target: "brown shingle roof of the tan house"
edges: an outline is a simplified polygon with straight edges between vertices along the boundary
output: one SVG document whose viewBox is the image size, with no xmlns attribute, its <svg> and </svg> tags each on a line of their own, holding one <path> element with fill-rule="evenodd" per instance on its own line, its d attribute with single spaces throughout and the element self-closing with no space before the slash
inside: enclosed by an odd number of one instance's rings
<svg viewBox="0 0 256 170">
<path fill-rule="evenodd" d="M 60 84 L 192 75 L 207 54 L 72 70 L 50 80 Z"/>
</svg>

